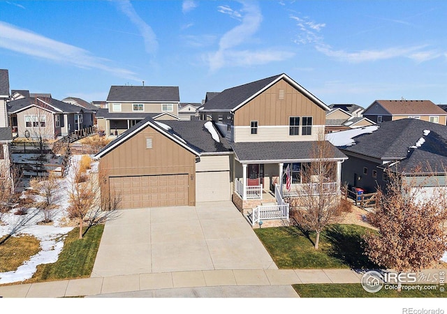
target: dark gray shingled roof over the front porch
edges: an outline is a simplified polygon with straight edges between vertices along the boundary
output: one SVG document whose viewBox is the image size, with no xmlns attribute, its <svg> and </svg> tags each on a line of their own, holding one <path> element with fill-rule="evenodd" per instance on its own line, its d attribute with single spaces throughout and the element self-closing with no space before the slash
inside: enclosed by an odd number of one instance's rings
<svg viewBox="0 0 447 314">
<path fill-rule="evenodd" d="M 240 163 L 298 163 L 316 160 L 312 149 L 316 141 L 307 142 L 239 142 L 231 143 L 235 159 Z M 332 144 L 331 144 L 332 145 Z M 326 160 L 348 159 L 337 147 Z"/>
</svg>

